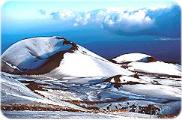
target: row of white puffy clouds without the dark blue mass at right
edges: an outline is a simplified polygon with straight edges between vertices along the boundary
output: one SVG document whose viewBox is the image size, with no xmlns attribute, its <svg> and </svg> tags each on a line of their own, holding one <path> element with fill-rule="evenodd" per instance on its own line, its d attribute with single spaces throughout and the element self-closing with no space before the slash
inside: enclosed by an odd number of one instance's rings
<svg viewBox="0 0 182 120">
<path fill-rule="evenodd" d="M 95 12 L 95 13 L 94 13 Z M 152 19 L 146 15 L 145 10 L 126 12 L 122 9 L 101 9 L 97 11 L 75 12 L 72 10 L 60 10 L 50 14 L 54 19 L 60 21 L 73 21 L 73 26 L 87 25 L 89 23 L 128 24 L 127 27 L 152 24 Z M 129 29 L 129 28 L 128 28 Z"/>
</svg>

